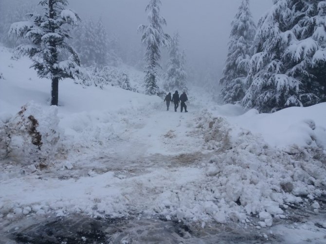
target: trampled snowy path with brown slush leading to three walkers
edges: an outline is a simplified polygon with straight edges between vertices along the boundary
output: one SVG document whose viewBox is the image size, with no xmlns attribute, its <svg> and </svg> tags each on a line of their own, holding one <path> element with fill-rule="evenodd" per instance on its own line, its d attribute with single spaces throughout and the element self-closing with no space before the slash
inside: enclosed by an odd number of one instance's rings
<svg viewBox="0 0 326 244">
<path fill-rule="evenodd" d="M 124 216 L 132 210 L 147 211 L 144 202 L 149 200 L 151 214 L 156 207 L 151 201 L 162 189 L 171 192 L 204 175 L 197 165 L 208 156 L 201 152 L 202 136 L 193 133 L 195 113 L 153 111 L 133 118 L 138 123 L 119 140 L 102 146 L 107 151 L 72 155 L 70 170 L 54 167 L 40 176 L 4 179 L 6 190 L 0 190 L 4 205 L 16 206 L 16 212 L 31 208 L 38 214 L 53 210 L 57 215 L 81 211 Z"/>
</svg>

